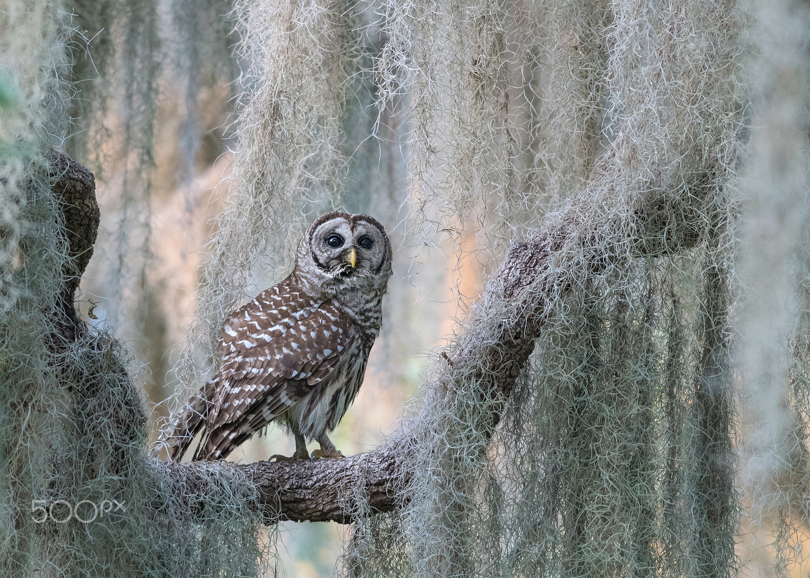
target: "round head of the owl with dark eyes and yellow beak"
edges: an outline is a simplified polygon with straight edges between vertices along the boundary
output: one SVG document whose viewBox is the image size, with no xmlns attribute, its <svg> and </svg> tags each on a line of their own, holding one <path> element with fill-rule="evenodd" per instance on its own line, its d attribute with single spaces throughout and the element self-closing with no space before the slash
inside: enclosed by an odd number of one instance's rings
<svg viewBox="0 0 810 578">
<path fill-rule="evenodd" d="M 296 272 L 325 291 L 385 291 L 391 274 L 386 231 L 369 215 L 321 215 L 298 244 Z"/>
</svg>

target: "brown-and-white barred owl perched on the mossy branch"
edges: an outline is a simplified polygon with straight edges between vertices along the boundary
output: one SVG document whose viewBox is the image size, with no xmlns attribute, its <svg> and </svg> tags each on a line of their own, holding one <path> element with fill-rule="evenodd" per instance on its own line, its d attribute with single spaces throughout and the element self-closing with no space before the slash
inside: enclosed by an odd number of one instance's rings
<svg viewBox="0 0 810 578">
<path fill-rule="evenodd" d="M 273 421 L 295 436 L 292 459 L 309 457 L 306 440 L 321 445 L 313 456 L 339 457 L 327 433 L 360 389 L 390 274 L 390 243 L 376 220 L 335 212 L 312 223 L 292 274 L 225 323 L 220 370 L 177 423 L 172 459 L 203 425 L 195 459 L 215 460 Z"/>
</svg>

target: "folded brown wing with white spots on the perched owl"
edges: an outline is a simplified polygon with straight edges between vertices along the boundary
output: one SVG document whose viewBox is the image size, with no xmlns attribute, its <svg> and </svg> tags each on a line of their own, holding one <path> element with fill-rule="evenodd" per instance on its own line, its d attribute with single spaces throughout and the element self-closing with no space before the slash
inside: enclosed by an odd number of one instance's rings
<svg viewBox="0 0 810 578">
<path fill-rule="evenodd" d="M 227 455 L 237 436 L 270 423 L 330 375 L 355 337 L 340 317 L 333 302 L 312 300 L 284 282 L 234 313 L 220 344 L 208 455 Z"/>
</svg>

